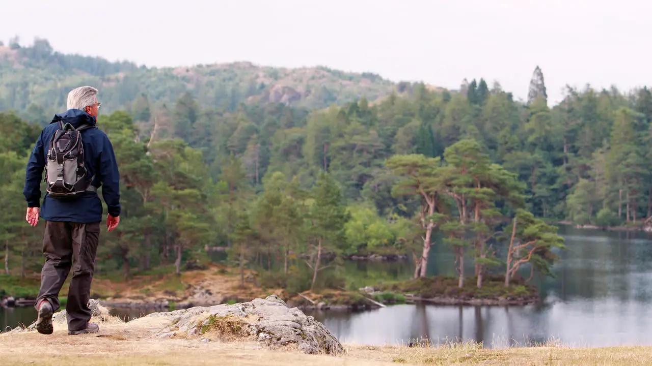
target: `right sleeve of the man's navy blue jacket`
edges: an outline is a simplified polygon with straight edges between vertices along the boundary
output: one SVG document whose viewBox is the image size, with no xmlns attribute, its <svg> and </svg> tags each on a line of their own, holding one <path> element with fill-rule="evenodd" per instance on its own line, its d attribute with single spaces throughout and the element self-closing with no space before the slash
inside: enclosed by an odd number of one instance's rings
<svg viewBox="0 0 652 366">
<path fill-rule="evenodd" d="M 113 145 L 106 135 L 104 135 L 100 153 L 100 181 L 102 182 L 102 197 L 104 197 L 109 214 L 114 218 L 120 216 L 120 173 L 115 161 Z"/>
</svg>

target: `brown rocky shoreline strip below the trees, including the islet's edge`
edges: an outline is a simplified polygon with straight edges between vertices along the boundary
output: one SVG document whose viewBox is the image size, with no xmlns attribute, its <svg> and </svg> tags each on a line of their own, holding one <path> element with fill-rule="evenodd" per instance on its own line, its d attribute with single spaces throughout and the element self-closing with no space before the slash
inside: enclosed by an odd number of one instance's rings
<svg viewBox="0 0 652 366">
<path fill-rule="evenodd" d="M 385 260 L 388 257 L 372 257 Z M 389 257 L 389 260 L 396 257 Z M 216 270 L 217 269 L 217 270 Z M 488 275 L 481 289 L 475 287 L 475 277 L 467 277 L 464 287 L 458 287 L 458 278 L 451 276 L 421 277 L 398 282 L 383 282 L 359 289 L 322 289 L 317 292 L 289 293 L 282 288 L 261 287 L 258 274 L 248 271 L 250 277 L 241 287 L 240 276 L 233 268 L 211 265 L 205 270 L 174 274 L 142 275 L 126 282 L 108 279 L 94 281 L 91 298 L 115 309 L 173 311 L 197 306 L 247 302 L 250 298 L 276 294 L 286 303 L 306 311 L 368 311 L 396 303 L 428 303 L 433 305 L 524 306 L 539 301 L 539 290 L 527 285 L 522 278 L 513 279 L 504 286 L 504 277 Z M 155 280 L 154 282 L 152 280 Z M 372 281 L 369 281 L 372 282 Z M 368 283 L 369 283 L 368 282 Z M 60 297 L 65 297 L 65 292 Z M 29 307 L 35 303 L 35 294 L 3 296 L 0 307 Z"/>
</svg>

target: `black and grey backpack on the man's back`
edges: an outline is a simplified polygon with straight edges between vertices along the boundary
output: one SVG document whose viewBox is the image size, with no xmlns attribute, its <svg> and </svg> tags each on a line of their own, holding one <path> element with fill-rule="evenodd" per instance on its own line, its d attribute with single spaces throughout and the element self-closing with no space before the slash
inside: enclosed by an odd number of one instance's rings
<svg viewBox="0 0 652 366">
<path fill-rule="evenodd" d="M 50 140 L 48 158 L 45 166 L 45 182 L 48 195 L 56 199 L 72 199 L 85 191 L 97 191 L 91 186 L 93 178 L 87 180 L 82 144 L 82 131 L 96 128 L 83 124 L 74 128 L 72 124 L 59 121 L 60 130 L 55 131 Z"/>
</svg>

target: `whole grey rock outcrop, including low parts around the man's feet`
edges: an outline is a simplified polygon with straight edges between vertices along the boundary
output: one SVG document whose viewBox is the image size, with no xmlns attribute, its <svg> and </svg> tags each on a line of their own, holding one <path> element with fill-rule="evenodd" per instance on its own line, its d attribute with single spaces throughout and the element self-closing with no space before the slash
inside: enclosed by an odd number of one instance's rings
<svg viewBox="0 0 652 366">
<path fill-rule="evenodd" d="M 168 313 L 153 313 L 129 322 L 110 315 L 97 300 L 90 300 L 92 322 L 112 332 L 143 334 L 143 339 L 180 337 L 198 341 L 254 341 L 269 348 L 297 348 L 308 354 L 340 354 L 344 347 L 327 328 L 306 317 L 296 307 L 289 308 L 276 295 L 250 302 L 222 304 L 211 307 L 192 307 Z M 52 317 L 55 331 L 66 329 L 66 311 Z M 102 324 L 113 324 L 103 328 Z M 36 322 L 27 328 L 16 328 L 9 333 L 36 331 Z M 117 327 L 117 328 L 116 328 Z"/>
</svg>

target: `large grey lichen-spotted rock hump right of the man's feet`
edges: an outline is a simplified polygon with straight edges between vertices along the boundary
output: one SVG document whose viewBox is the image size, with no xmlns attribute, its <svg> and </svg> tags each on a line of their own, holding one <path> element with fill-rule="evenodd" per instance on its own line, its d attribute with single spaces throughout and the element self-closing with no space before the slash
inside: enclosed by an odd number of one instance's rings
<svg viewBox="0 0 652 366">
<path fill-rule="evenodd" d="M 154 337 L 208 337 L 211 334 L 232 333 L 257 341 L 270 348 L 296 346 L 308 354 L 338 354 L 344 348 L 323 324 L 306 317 L 296 307 L 289 308 L 276 295 L 251 302 L 211 307 L 192 307 L 170 313 L 153 313 L 132 320 L 147 322 L 147 318 L 169 318 L 169 326 Z"/>
</svg>

